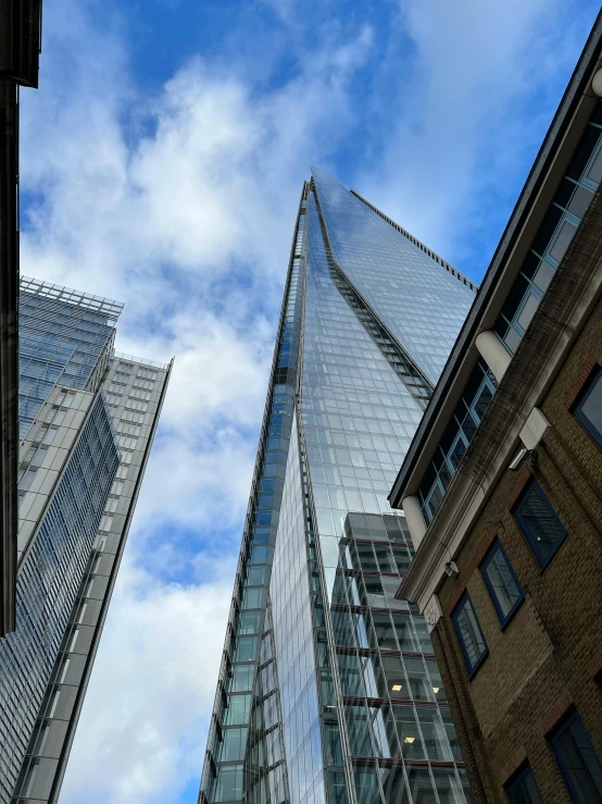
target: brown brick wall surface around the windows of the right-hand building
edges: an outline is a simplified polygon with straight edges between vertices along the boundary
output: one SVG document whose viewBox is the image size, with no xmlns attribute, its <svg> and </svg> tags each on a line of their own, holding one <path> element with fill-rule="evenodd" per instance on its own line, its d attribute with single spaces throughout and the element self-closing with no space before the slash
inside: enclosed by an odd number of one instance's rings
<svg viewBox="0 0 602 804">
<path fill-rule="evenodd" d="M 460 574 L 439 590 L 434 644 L 477 802 L 507 801 L 503 784 L 528 759 L 544 803 L 569 804 L 547 734 L 573 706 L 602 757 L 602 450 L 572 412 L 597 363 L 602 302 L 541 404 L 551 428 L 535 466 L 504 472 L 456 557 Z M 543 570 L 512 514 L 531 477 L 567 531 Z M 525 592 L 503 629 L 478 569 L 496 536 Z M 472 679 L 450 617 L 465 590 L 489 648 Z"/>
</svg>

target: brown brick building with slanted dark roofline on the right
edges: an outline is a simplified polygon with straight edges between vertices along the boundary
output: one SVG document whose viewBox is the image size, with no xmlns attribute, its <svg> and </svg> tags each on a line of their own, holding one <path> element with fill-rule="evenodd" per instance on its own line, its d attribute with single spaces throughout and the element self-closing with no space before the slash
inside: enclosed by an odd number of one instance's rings
<svg viewBox="0 0 602 804">
<path fill-rule="evenodd" d="M 602 802 L 599 17 L 390 494 L 475 802 Z"/>
</svg>

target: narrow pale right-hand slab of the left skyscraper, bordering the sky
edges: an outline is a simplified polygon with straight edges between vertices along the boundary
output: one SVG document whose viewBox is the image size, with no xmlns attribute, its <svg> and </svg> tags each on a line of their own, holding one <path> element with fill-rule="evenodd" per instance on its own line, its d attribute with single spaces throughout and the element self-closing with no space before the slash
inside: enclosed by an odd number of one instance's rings
<svg viewBox="0 0 602 804">
<path fill-rule="evenodd" d="M 104 388 L 114 388 L 106 397 L 116 437 L 126 432 L 134 443 L 121 447 L 120 465 L 106 495 L 93 544 L 87 553 L 84 574 L 75 587 L 75 601 L 50 672 L 45 703 L 37 713 L 33 713 L 37 715 L 35 727 L 13 804 L 49 804 L 60 797 L 73 735 L 102 634 L 168 372 L 168 366 L 149 364 L 149 361 L 141 362 L 139 358 L 114 357 L 104 379 Z M 152 398 L 143 403 L 142 410 L 133 395 L 138 388 L 147 388 L 149 383 Z M 63 393 L 59 398 L 62 397 Z M 48 705 L 46 702 L 51 703 Z M 225 756 L 234 757 L 234 743 L 229 743 Z"/>
</svg>

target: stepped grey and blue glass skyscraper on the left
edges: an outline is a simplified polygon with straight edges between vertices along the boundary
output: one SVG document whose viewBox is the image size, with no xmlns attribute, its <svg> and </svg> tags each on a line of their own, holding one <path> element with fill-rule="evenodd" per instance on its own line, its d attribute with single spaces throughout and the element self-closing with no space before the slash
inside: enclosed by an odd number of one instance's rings
<svg viewBox="0 0 602 804">
<path fill-rule="evenodd" d="M 123 305 L 22 279 L 16 628 L 0 802 L 57 802 L 171 366 L 114 351 Z"/>
</svg>

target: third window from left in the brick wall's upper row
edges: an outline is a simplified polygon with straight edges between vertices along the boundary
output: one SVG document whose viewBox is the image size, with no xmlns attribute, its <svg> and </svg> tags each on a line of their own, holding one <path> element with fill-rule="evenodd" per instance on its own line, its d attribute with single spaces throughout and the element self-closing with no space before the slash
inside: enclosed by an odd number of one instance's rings
<svg viewBox="0 0 602 804">
<path fill-rule="evenodd" d="M 564 542 L 566 530 L 535 479 L 521 495 L 514 516 L 537 560 L 545 567 Z"/>
</svg>

